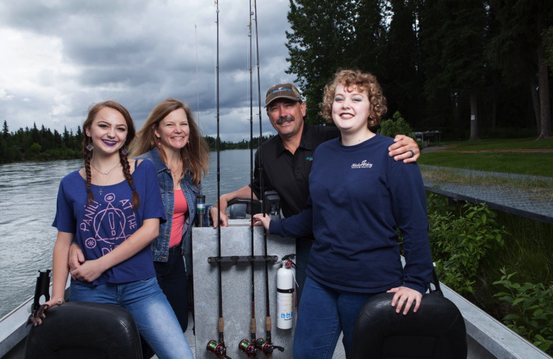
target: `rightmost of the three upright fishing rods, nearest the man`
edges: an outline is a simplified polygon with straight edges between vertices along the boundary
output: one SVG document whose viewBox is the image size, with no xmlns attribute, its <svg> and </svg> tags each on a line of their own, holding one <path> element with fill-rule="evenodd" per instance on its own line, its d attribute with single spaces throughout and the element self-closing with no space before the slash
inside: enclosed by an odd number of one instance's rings
<svg viewBox="0 0 553 359">
<path fill-rule="evenodd" d="M 254 22 L 255 22 L 255 43 L 256 43 L 256 70 L 257 70 L 257 98 L 259 106 L 259 186 L 261 188 L 261 202 L 263 208 L 265 208 L 265 187 L 263 185 L 263 122 L 261 121 L 261 77 L 259 75 L 259 34 L 257 23 L 257 1 L 254 0 Z M 263 211 L 265 216 L 265 211 Z M 270 310 L 270 295 L 269 295 L 269 264 L 268 259 L 268 243 L 267 243 L 267 231 L 263 229 L 263 241 L 265 242 L 264 255 L 265 255 L 265 338 L 256 339 L 256 347 L 265 356 L 272 358 L 272 352 L 274 349 L 284 351 L 283 347 L 278 347 L 272 343 L 271 340 L 271 310 Z"/>
</svg>

